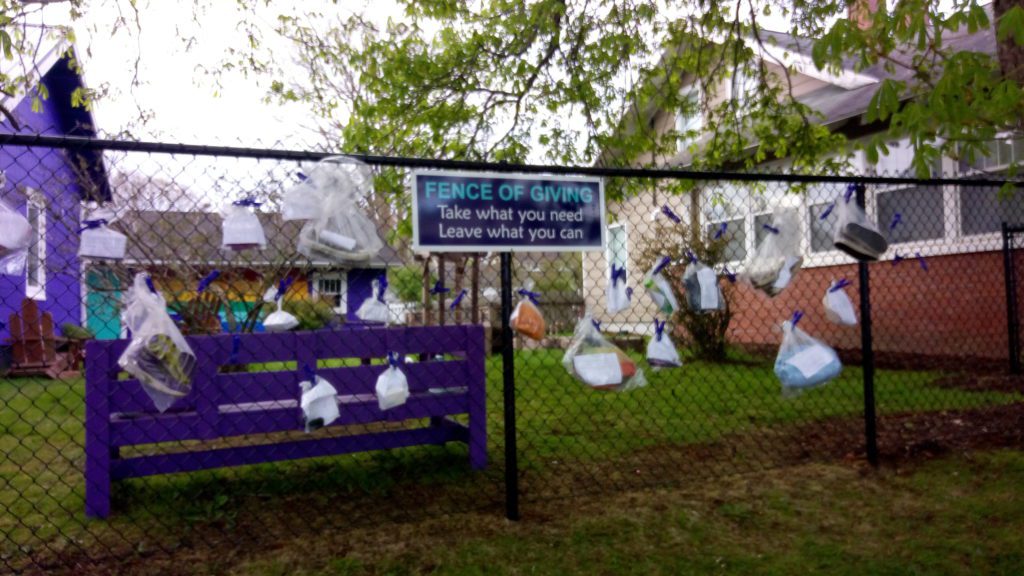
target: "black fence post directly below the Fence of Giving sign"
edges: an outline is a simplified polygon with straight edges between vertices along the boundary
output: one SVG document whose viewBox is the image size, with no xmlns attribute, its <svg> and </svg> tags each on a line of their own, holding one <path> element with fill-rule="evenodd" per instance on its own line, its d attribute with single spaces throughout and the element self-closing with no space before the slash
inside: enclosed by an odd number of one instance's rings
<svg viewBox="0 0 1024 576">
<path fill-rule="evenodd" d="M 502 390 L 505 402 L 505 517 L 519 520 L 519 460 L 515 429 L 515 358 L 512 326 L 512 253 L 502 252 Z"/>
</svg>

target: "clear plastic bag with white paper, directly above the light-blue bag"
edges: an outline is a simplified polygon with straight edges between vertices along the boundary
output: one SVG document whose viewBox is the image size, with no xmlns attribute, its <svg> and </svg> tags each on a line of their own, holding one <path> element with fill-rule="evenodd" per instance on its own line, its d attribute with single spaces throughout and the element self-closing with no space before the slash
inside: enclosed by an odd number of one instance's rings
<svg viewBox="0 0 1024 576">
<path fill-rule="evenodd" d="M 772 223 L 764 228 L 768 234 L 754 252 L 743 277 L 755 288 L 775 296 L 790 285 L 804 263 L 800 255 L 800 213 L 776 210 Z"/>
</svg>

